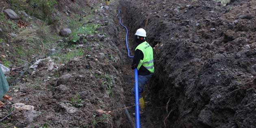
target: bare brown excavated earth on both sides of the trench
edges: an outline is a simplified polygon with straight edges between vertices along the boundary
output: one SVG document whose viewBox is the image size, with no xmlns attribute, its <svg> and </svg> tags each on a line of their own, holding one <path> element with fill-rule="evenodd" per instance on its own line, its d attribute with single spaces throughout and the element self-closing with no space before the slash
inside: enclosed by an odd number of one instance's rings
<svg viewBox="0 0 256 128">
<path fill-rule="evenodd" d="M 90 22 L 102 26 L 94 35 L 81 36 L 79 42 L 87 40 L 84 55 L 52 71 L 41 63 L 33 75 L 19 78 L 9 93 L 14 100 L 0 108 L 0 118 L 12 104 L 23 102 L 35 111 L 15 111 L 4 121 L 9 127 L 130 128 L 122 111 L 97 112 L 134 102 L 133 72 L 126 71 L 132 60 L 117 20 L 121 9 L 130 50 L 138 28 L 145 28 L 154 47 L 156 72 L 146 86 L 142 128 L 255 128 L 256 4 L 231 1 L 223 7 L 209 0 L 131 0 L 103 9 L 85 2 L 98 9 Z M 60 10 L 76 10 L 66 2 Z"/>
</svg>

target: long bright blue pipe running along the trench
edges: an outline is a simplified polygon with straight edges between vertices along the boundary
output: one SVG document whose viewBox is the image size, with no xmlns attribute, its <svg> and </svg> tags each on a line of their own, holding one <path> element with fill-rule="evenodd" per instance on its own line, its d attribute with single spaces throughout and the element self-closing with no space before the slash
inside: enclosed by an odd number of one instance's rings
<svg viewBox="0 0 256 128">
<path fill-rule="evenodd" d="M 127 47 L 127 51 L 128 51 L 128 57 L 129 58 L 133 58 L 133 56 L 130 56 L 130 50 L 128 47 L 128 29 L 126 28 L 126 26 L 124 26 L 124 24 L 121 23 L 121 17 L 120 17 L 120 10 L 118 10 L 118 18 L 119 18 L 119 23 L 121 24 L 121 26 L 123 26 L 126 29 L 126 47 Z M 136 128 L 140 128 L 140 118 L 139 118 L 139 84 L 138 84 L 138 69 L 135 68 L 134 70 L 134 74 L 135 74 L 135 123 L 136 123 Z"/>
</svg>

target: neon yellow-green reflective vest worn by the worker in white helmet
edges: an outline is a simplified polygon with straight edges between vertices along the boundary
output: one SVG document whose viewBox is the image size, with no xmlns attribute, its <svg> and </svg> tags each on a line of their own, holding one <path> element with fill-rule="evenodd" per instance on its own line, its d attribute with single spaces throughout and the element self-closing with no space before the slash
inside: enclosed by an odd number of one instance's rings
<svg viewBox="0 0 256 128">
<path fill-rule="evenodd" d="M 139 70 L 141 66 L 145 67 L 150 71 L 150 73 L 154 73 L 154 58 L 153 58 L 153 48 L 146 41 L 139 44 L 135 50 L 141 50 L 143 52 L 143 60 L 139 61 L 139 65 L 137 69 Z"/>
</svg>

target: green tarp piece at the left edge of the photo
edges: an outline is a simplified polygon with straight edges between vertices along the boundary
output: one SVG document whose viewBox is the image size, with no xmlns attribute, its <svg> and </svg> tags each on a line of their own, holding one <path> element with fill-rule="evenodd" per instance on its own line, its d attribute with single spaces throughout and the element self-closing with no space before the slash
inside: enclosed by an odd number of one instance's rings
<svg viewBox="0 0 256 128">
<path fill-rule="evenodd" d="M 9 91 L 9 85 L 0 67 L 0 99 L 2 99 L 4 94 L 7 93 L 8 91 Z"/>
</svg>

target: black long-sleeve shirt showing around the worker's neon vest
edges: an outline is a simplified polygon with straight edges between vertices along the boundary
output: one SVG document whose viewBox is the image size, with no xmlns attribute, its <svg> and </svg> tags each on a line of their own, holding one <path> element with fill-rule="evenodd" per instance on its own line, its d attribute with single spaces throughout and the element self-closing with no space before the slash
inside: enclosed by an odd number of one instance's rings
<svg viewBox="0 0 256 128">
<path fill-rule="evenodd" d="M 132 69 L 135 69 L 139 65 L 139 61 L 144 59 L 143 52 L 139 49 L 135 50 L 133 62 L 132 62 Z M 138 75 L 146 76 L 151 74 L 148 69 L 146 69 L 143 65 L 138 70 Z"/>
</svg>

